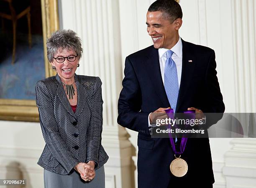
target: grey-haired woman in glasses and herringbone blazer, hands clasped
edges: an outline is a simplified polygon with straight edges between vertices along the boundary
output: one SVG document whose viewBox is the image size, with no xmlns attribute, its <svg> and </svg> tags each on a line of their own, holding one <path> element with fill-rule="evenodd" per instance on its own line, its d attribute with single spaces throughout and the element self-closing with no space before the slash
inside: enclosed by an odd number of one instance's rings
<svg viewBox="0 0 256 188">
<path fill-rule="evenodd" d="M 58 30 L 47 43 L 47 57 L 57 74 L 38 81 L 36 105 L 46 142 L 38 165 L 45 188 L 104 188 L 108 155 L 101 145 L 102 95 L 99 77 L 75 74 L 81 40 L 72 30 Z"/>
</svg>

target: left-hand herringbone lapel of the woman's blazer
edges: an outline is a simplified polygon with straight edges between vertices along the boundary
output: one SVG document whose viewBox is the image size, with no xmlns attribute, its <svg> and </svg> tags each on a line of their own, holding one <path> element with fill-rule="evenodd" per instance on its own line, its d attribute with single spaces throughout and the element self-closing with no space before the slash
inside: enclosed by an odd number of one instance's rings
<svg viewBox="0 0 256 188">
<path fill-rule="evenodd" d="M 56 74 L 56 81 L 57 81 L 57 90 L 56 94 L 59 97 L 59 100 L 61 101 L 63 107 L 67 110 L 67 112 L 74 117 L 74 112 L 69 104 L 69 100 L 67 99 L 67 94 L 63 88 L 63 85 L 61 83 L 61 79 L 58 74 Z"/>
</svg>

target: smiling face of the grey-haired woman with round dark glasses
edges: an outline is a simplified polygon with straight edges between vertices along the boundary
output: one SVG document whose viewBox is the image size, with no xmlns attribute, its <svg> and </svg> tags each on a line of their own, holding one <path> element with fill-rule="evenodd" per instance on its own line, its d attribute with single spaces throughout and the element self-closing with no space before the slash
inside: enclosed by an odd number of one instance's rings
<svg viewBox="0 0 256 188">
<path fill-rule="evenodd" d="M 58 50 L 57 53 L 54 55 L 54 58 L 58 56 L 63 56 L 67 57 L 70 55 L 75 55 L 77 54 L 71 49 L 63 49 L 63 50 Z M 51 62 L 52 66 L 56 67 L 56 71 L 58 75 L 61 77 L 62 80 L 69 80 L 74 78 L 75 71 L 77 70 L 77 64 L 79 63 L 79 58 L 77 57 L 75 61 L 70 62 L 65 58 L 65 61 L 63 63 L 58 63 L 56 59 L 54 59 L 53 62 Z"/>
</svg>

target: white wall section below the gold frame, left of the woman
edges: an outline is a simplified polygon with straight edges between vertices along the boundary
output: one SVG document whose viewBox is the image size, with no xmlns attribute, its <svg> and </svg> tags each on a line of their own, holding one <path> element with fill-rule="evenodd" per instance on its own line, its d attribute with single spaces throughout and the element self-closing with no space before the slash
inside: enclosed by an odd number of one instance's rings
<svg viewBox="0 0 256 188">
<path fill-rule="evenodd" d="M 44 148 L 40 124 L 0 121 L 0 134 L 0 179 L 26 179 L 27 188 L 43 188 L 43 169 L 36 164 Z"/>
</svg>

